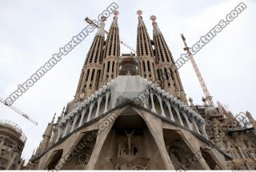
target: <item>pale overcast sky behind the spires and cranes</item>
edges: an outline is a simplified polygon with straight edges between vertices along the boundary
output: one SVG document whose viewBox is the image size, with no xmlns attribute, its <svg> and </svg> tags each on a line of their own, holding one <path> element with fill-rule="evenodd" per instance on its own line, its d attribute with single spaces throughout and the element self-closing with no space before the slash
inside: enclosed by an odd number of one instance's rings
<svg viewBox="0 0 256 172">
<path fill-rule="evenodd" d="M 137 10 L 142 10 L 143 20 L 153 39 L 150 15 L 154 14 L 174 60 L 184 53 L 180 34 L 184 34 L 186 42 L 192 46 L 226 18 L 235 6 L 244 2 L 246 10 L 194 55 L 194 59 L 210 94 L 214 96 L 214 102 L 226 105 L 233 114 L 249 110 L 256 118 L 256 58 L 253 55 L 256 1 L 253 0 L 0 0 L 0 97 L 7 98 L 18 84 L 30 78 L 52 54 L 78 34 L 86 26 L 86 16 L 97 18 L 112 2 L 119 6 L 118 26 L 123 41 L 136 48 Z M 112 17 L 106 21 L 106 30 L 109 30 L 111 22 Z M 54 113 L 60 115 L 63 106 L 74 98 L 82 65 L 95 33 L 89 34 L 14 102 L 13 105 L 34 118 L 38 126 L 0 104 L 0 119 L 17 123 L 26 134 L 22 153 L 26 161 L 41 142 Z M 130 53 L 130 50 L 121 46 L 121 53 Z M 203 92 L 191 63 L 186 62 L 179 69 L 179 74 L 187 98 L 193 98 L 194 104 L 202 104 Z"/>
</svg>

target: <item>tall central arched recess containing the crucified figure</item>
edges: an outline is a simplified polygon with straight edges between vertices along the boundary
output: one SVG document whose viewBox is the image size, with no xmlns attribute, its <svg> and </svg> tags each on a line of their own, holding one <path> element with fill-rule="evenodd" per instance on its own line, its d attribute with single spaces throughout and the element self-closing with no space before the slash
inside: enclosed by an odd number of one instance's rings
<svg viewBox="0 0 256 172">
<path fill-rule="evenodd" d="M 166 169 L 150 130 L 134 110 L 127 108 L 115 120 L 95 164 L 95 170 L 102 169 Z"/>
</svg>

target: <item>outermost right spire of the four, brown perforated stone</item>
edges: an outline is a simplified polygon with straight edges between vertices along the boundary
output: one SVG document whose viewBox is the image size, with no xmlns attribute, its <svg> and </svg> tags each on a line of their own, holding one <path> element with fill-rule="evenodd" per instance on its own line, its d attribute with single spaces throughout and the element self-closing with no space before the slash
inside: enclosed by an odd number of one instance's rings
<svg viewBox="0 0 256 172">
<path fill-rule="evenodd" d="M 184 92 L 182 81 L 179 77 L 178 70 L 174 66 L 174 58 L 166 44 L 166 40 L 158 28 L 154 15 L 150 16 L 153 26 L 154 52 L 155 61 L 157 63 L 157 75 L 162 89 L 167 90 L 182 102 L 187 104 L 186 94 Z"/>
</svg>

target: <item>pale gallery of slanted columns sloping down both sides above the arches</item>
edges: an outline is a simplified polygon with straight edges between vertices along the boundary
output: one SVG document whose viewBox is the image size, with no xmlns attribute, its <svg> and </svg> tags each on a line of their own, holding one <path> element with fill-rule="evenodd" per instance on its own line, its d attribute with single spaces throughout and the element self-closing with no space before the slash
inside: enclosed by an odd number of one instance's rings
<svg viewBox="0 0 256 172">
<path fill-rule="evenodd" d="M 113 98 L 119 98 L 120 100 L 120 97 L 116 95 L 110 98 L 111 87 L 115 89 L 115 86 L 117 86 L 117 81 L 115 80 L 116 79 L 108 82 L 106 86 L 96 91 L 95 94 L 92 94 L 84 102 L 79 102 L 74 110 L 66 114 L 61 122 L 58 122 L 58 136 L 55 142 L 58 142 L 60 138 L 70 134 L 84 123 L 90 122 L 90 120 L 97 118 L 100 114 L 104 114 L 116 106 L 113 103 L 110 105 L 110 102 L 118 103 L 117 100 L 112 100 Z M 205 120 L 194 110 L 191 110 L 189 106 L 186 106 L 186 104 L 174 98 L 174 96 L 169 94 L 166 90 L 161 90 L 159 86 L 147 81 L 145 78 L 142 78 L 142 82 L 139 84 L 145 89 L 144 92 L 147 93 L 143 96 L 143 100 L 139 104 L 140 106 L 177 123 L 179 126 L 193 130 L 208 139 L 205 130 Z M 129 93 L 129 90 L 123 91 Z M 128 99 L 134 101 L 134 98 L 138 98 L 139 93 L 133 96 L 129 95 Z"/>
</svg>

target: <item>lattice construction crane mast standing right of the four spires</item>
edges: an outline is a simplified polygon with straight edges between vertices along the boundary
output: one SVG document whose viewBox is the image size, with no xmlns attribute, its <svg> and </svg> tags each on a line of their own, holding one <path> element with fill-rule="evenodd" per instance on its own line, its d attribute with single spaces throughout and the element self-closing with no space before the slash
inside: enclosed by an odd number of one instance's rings
<svg viewBox="0 0 256 172">
<path fill-rule="evenodd" d="M 213 97 L 210 96 L 210 92 L 209 92 L 209 90 L 207 89 L 206 83 L 204 82 L 204 80 L 203 80 L 203 78 L 202 78 L 202 75 L 201 75 L 201 73 L 200 73 L 200 71 L 199 71 L 199 69 L 198 69 L 198 65 L 197 65 L 197 63 L 194 61 L 193 55 L 192 55 L 192 53 L 191 53 L 191 51 L 190 51 L 190 48 L 186 45 L 186 38 L 184 37 L 183 34 L 181 34 L 181 36 L 182 36 L 182 40 L 183 40 L 183 42 L 184 42 L 184 44 L 185 44 L 184 50 L 186 50 L 186 53 L 189 54 L 190 62 L 192 63 L 192 66 L 193 66 L 193 68 L 194 68 L 195 74 L 197 74 L 197 77 L 198 77 L 198 80 L 199 80 L 200 85 L 201 85 L 201 87 L 202 87 L 203 93 L 204 93 L 205 96 L 206 96 L 206 101 L 208 102 L 208 104 L 209 104 L 210 106 L 214 106 Z"/>
</svg>

